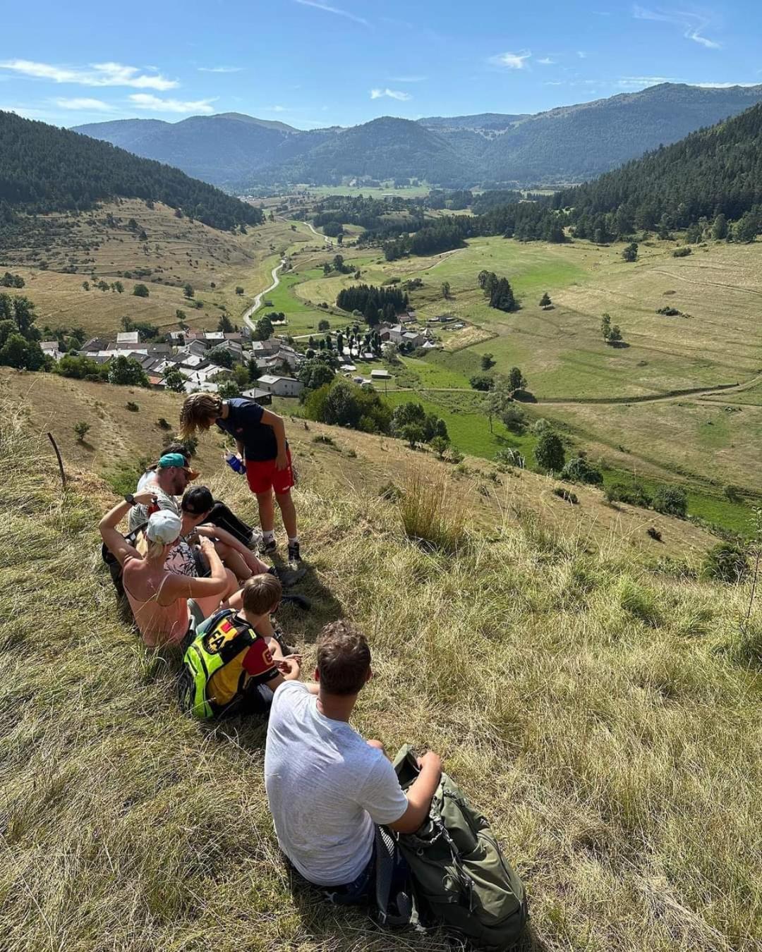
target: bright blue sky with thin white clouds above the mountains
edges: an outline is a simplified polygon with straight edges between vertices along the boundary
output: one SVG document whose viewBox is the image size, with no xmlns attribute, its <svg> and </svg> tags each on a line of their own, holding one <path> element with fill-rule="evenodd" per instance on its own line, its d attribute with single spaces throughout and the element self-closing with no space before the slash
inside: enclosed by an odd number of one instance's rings
<svg viewBox="0 0 762 952">
<path fill-rule="evenodd" d="M 760 83 L 760 38 L 758 0 L 38 0 L 4 12 L 0 109 L 299 129 L 536 112 L 665 80 Z"/>
</svg>

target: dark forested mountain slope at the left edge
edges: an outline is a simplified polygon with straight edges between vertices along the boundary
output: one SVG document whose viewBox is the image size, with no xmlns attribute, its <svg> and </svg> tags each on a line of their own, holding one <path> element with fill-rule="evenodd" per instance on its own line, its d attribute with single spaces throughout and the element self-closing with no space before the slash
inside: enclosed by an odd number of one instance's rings
<svg viewBox="0 0 762 952">
<path fill-rule="evenodd" d="M 164 202 L 213 228 L 262 220 L 258 208 L 179 169 L 68 129 L 0 112 L 0 221 L 14 210 L 91 208 L 114 196 Z"/>
</svg>

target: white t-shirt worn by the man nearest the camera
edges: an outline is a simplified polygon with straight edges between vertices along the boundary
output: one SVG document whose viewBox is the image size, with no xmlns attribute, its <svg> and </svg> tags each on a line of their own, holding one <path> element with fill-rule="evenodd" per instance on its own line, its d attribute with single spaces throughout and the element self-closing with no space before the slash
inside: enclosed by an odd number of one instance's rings
<svg viewBox="0 0 762 952">
<path fill-rule="evenodd" d="M 297 681 L 272 699 L 265 786 L 281 849 L 316 885 L 355 880 L 371 859 L 373 823 L 395 823 L 408 808 L 384 754 L 319 713 Z"/>
</svg>

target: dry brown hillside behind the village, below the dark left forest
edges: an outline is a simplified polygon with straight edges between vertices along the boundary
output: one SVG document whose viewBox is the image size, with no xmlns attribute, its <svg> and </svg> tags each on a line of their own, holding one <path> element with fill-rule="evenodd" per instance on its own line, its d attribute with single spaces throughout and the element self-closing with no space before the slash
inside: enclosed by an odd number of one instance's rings
<svg viewBox="0 0 762 952">
<path fill-rule="evenodd" d="M 137 228 L 128 227 L 130 219 Z M 6 235 L 0 264 L 24 278 L 21 293 L 36 305 L 40 326 L 84 327 L 109 336 L 121 329 L 120 318 L 127 315 L 177 329 L 175 310 L 180 308 L 191 327 L 212 330 L 223 304 L 231 320 L 240 323 L 253 296 L 269 284 L 282 250 L 308 240 L 307 233 L 294 233 L 280 220 L 233 234 L 177 218 L 160 203 L 149 208 L 124 200 L 76 217 L 53 213 L 21 219 Z M 93 274 L 109 283 L 120 280 L 125 292 L 86 291 L 83 281 L 91 282 Z M 148 286 L 148 298 L 132 296 L 138 283 Z M 196 310 L 186 300 L 186 283 L 205 307 Z M 239 286 L 243 296 L 235 293 Z"/>
</svg>

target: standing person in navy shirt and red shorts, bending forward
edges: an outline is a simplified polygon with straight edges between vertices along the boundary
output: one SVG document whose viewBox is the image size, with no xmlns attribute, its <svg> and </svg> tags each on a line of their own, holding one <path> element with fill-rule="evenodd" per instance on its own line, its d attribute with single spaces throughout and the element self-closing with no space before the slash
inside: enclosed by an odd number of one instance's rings
<svg viewBox="0 0 762 952">
<path fill-rule="evenodd" d="M 213 393 L 191 393 L 180 412 L 180 432 L 184 439 L 197 430 L 208 430 L 216 424 L 235 440 L 238 456 L 246 464 L 246 478 L 256 496 L 262 526 L 262 551 L 271 555 L 275 542 L 275 500 L 289 537 L 289 562 L 301 560 L 296 529 L 296 509 L 291 498 L 293 470 L 291 450 L 286 440 L 283 417 L 260 407 L 252 400 L 234 397 L 222 400 Z"/>
</svg>

